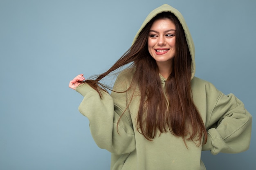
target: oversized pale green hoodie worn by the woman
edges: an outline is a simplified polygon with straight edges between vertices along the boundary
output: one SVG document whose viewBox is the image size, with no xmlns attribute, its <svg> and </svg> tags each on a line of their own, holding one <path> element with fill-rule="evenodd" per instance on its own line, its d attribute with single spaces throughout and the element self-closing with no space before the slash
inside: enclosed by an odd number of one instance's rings
<svg viewBox="0 0 256 170">
<path fill-rule="evenodd" d="M 219 152 L 243 152 L 249 148 L 252 116 L 243 103 L 233 94 L 224 95 L 211 83 L 194 77 L 194 44 L 181 13 L 164 4 L 148 15 L 137 35 L 146 23 L 163 11 L 174 13 L 186 34 L 192 57 L 193 102 L 207 128 L 208 140 L 203 146 L 186 141 L 186 147 L 181 137 L 166 132 L 156 135 L 153 141 L 148 141 L 136 129 L 140 102 L 138 89 L 135 88 L 135 93 L 134 89 L 126 93 L 112 92 L 111 95 L 103 92 L 103 96 L 99 97 L 88 84 L 82 84 L 76 88 L 76 91 L 84 96 L 79 111 L 88 117 L 96 144 L 112 153 L 111 170 L 205 170 L 201 161 L 202 150 L 211 150 L 211 153 L 216 155 Z M 115 90 L 125 91 L 130 86 L 132 73 L 128 69 L 121 72 L 115 82 Z M 165 79 L 162 76 L 161 79 L 164 86 Z"/>
</svg>

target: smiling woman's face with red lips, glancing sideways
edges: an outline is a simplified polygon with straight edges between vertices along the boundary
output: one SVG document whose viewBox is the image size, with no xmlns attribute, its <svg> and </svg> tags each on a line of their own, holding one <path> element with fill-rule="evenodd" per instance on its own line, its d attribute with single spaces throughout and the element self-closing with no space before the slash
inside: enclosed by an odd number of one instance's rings
<svg viewBox="0 0 256 170">
<path fill-rule="evenodd" d="M 156 20 L 148 33 L 148 51 L 158 66 L 171 64 L 175 54 L 175 24 L 169 19 Z"/>
</svg>

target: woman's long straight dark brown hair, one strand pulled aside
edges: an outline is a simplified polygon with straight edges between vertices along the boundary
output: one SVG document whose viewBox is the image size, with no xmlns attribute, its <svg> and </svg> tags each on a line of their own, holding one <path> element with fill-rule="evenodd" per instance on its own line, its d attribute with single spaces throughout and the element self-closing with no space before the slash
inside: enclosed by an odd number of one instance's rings
<svg viewBox="0 0 256 170">
<path fill-rule="evenodd" d="M 166 79 L 165 87 L 162 88 L 159 70 L 148 52 L 147 41 L 153 22 L 166 18 L 176 26 L 175 57 L 172 62 L 171 75 Z M 137 130 L 148 140 L 154 139 L 159 130 L 160 133 L 170 131 L 173 135 L 182 137 L 185 144 L 186 140 L 197 141 L 201 144 L 203 135 L 204 142 L 206 142 L 207 131 L 192 99 L 189 47 L 182 25 L 173 13 L 162 12 L 156 15 L 141 30 L 130 49 L 108 71 L 99 75 L 95 80 L 85 82 L 101 95 L 97 85 L 99 81 L 112 71 L 129 63 L 133 63 L 130 67 L 135 68 L 131 86 L 136 84 L 141 96 Z"/>
</svg>

